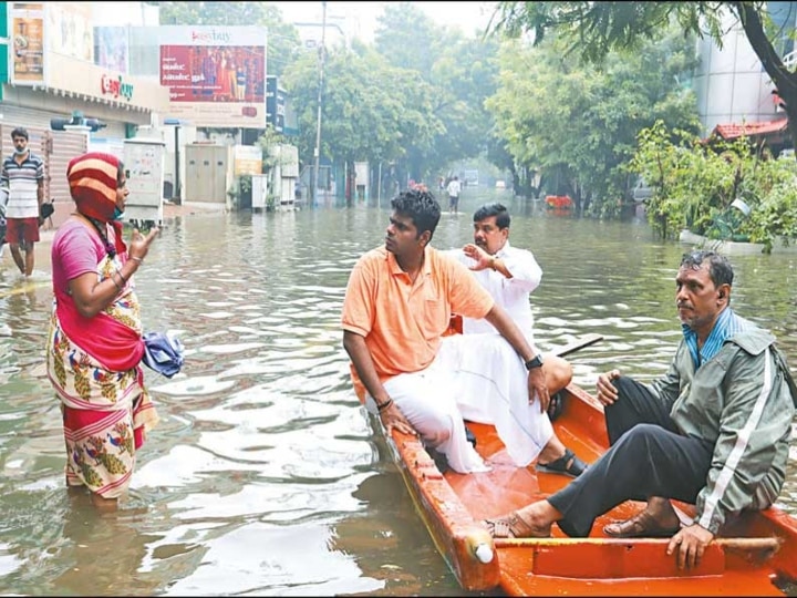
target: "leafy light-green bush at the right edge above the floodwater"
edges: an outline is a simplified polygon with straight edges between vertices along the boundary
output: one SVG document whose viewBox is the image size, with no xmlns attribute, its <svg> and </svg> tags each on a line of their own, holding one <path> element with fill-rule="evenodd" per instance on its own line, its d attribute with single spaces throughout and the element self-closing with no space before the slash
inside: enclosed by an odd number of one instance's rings
<svg viewBox="0 0 797 598">
<path fill-rule="evenodd" d="M 664 237 L 689 229 L 714 239 L 763 243 L 797 239 L 797 168 L 770 159 L 748 140 L 703 143 L 658 122 L 640 133 L 630 167 L 654 188 L 651 225 Z M 749 209 L 744 214 L 737 205 Z M 742 206 L 744 207 L 744 206 Z"/>
</svg>

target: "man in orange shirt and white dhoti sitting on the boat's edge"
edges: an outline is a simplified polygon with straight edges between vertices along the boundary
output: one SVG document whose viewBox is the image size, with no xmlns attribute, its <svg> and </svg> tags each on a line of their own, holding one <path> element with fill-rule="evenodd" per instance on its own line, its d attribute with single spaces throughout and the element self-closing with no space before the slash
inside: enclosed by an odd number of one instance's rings
<svg viewBox="0 0 797 598">
<path fill-rule="evenodd" d="M 467 442 L 453 389 L 489 393 L 506 405 L 495 425 L 518 466 L 537 460 L 548 471 L 580 475 L 584 463 L 556 436 L 546 413 L 541 357 L 465 266 L 429 247 L 437 200 L 410 189 L 392 207 L 384 247 L 360 258 L 343 301 L 343 347 L 360 400 L 389 434 L 420 434 L 453 470 L 469 473 L 487 467 Z M 452 311 L 485 318 L 500 336 L 443 337 Z"/>
</svg>

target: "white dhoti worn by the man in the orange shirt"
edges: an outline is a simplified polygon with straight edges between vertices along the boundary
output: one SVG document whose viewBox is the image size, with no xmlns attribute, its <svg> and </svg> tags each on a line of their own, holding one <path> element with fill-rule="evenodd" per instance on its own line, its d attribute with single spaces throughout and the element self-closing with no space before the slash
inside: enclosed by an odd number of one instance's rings
<svg viewBox="0 0 797 598">
<path fill-rule="evenodd" d="M 489 470 L 467 442 L 463 419 L 495 425 L 521 467 L 537 458 L 553 434 L 539 403 L 529 404 L 522 360 L 498 334 L 445 337 L 428 368 L 393 377 L 384 386 L 426 445 L 445 454 L 459 473 Z M 371 396 L 365 405 L 376 413 Z"/>
</svg>

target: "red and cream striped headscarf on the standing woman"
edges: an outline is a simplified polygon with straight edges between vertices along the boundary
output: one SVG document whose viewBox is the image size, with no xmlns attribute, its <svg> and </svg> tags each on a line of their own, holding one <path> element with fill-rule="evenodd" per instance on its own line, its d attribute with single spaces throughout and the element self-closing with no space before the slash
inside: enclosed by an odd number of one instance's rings
<svg viewBox="0 0 797 598">
<path fill-rule="evenodd" d="M 66 178 L 77 212 L 101 223 L 113 219 L 118 165 L 116 156 L 102 152 L 90 152 L 70 161 Z"/>
</svg>

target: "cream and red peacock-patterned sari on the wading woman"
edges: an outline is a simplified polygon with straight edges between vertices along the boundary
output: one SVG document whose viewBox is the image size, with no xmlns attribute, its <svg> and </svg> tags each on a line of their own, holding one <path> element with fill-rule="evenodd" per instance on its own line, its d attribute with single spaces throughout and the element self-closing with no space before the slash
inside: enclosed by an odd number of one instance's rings
<svg viewBox="0 0 797 598">
<path fill-rule="evenodd" d="M 97 280 L 126 260 L 104 256 Z M 144 388 L 138 299 L 130 281 L 104 311 L 80 315 L 63 289 L 54 289 L 46 343 L 50 381 L 62 402 L 66 483 L 115 498 L 130 485 L 136 450 L 158 421 Z"/>
</svg>

